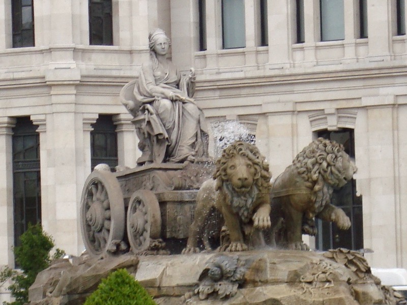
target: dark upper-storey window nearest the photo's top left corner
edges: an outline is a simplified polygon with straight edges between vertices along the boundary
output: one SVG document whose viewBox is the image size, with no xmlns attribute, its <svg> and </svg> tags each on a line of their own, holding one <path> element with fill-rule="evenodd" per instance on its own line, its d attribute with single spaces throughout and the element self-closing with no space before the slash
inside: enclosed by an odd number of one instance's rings
<svg viewBox="0 0 407 305">
<path fill-rule="evenodd" d="M 34 46 L 33 0 L 12 0 L 13 48 Z"/>
</svg>

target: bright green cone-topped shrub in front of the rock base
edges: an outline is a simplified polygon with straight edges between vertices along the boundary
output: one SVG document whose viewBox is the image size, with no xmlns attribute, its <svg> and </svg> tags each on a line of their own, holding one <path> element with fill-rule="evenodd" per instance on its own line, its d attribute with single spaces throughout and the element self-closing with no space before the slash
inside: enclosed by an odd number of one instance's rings
<svg viewBox="0 0 407 305">
<path fill-rule="evenodd" d="M 83 305 L 156 305 L 126 269 L 118 269 L 103 279 Z"/>
</svg>

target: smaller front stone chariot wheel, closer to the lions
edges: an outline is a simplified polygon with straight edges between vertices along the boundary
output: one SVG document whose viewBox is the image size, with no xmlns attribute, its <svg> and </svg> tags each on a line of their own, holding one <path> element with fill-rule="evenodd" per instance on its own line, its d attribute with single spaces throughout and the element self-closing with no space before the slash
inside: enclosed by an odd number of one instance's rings
<svg viewBox="0 0 407 305">
<path fill-rule="evenodd" d="M 133 253 L 146 251 L 161 236 L 161 214 L 156 195 L 148 190 L 133 193 L 127 209 L 127 235 Z"/>
</svg>

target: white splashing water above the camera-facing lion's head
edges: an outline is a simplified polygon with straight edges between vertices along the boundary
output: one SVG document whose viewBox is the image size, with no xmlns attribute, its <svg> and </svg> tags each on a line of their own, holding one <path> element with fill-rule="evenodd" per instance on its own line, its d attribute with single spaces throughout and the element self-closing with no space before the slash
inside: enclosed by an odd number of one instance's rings
<svg viewBox="0 0 407 305">
<path fill-rule="evenodd" d="M 254 144 L 255 137 L 237 120 L 214 121 L 211 124 L 214 138 L 214 157 L 218 158 L 222 150 L 235 141 Z"/>
</svg>

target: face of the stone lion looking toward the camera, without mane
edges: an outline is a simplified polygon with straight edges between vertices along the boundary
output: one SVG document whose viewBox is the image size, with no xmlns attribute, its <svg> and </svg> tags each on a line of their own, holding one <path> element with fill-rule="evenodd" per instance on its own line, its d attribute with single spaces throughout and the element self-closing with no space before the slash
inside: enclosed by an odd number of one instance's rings
<svg viewBox="0 0 407 305">
<path fill-rule="evenodd" d="M 244 156 L 236 155 L 227 161 L 226 180 L 237 193 L 247 193 L 253 185 L 256 171 L 250 160 Z"/>
</svg>

